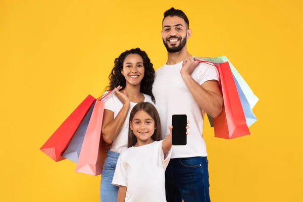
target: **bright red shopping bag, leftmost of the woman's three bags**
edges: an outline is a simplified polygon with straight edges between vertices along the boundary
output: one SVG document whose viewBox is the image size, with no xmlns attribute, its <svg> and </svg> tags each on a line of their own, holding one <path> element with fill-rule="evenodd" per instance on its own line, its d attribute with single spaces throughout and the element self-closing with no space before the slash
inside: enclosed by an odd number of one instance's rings
<svg viewBox="0 0 303 202">
<path fill-rule="evenodd" d="M 65 158 L 62 157 L 62 154 L 95 100 L 96 98 L 88 95 L 53 135 L 48 138 L 40 150 L 56 162 L 64 160 Z"/>
</svg>

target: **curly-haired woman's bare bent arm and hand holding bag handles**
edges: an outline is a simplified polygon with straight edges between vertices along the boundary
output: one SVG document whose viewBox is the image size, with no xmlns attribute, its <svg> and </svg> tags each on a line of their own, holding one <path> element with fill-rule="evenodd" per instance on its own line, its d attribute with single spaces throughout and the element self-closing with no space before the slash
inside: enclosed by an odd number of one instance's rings
<svg viewBox="0 0 303 202">
<path fill-rule="evenodd" d="M 110 110 L 104 110 L 102 136 L 104 141 L 109 144 L 113 142 L 113 140 L 120 132 L 120 129 L 127 116 L 129 110 L 129 104 L 130 104 L 125 91 L 123 93 L 116 91 L 115 94 L 121 100 L 123 107 L 119 111 L 115 119 L 114 119 L 114 112 Z"/>
</svg>

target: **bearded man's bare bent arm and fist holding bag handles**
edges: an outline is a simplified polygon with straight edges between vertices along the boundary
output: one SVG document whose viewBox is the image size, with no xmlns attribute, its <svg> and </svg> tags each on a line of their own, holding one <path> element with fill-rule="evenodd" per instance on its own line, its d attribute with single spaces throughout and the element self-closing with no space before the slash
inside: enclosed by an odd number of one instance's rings
<svg viewBox="0 0 303 202">
<path fill-rule="evenodd" d="M 221 115 L 223 110 L 223 96 L 216 80 L 209 80 L 199 85 L 191 77 L 191 73 L 198 65 L 192 57 L 185 59 L 181 69 L 181 76 L 189 88 L 199 107 L 213 118 Z"/>
</svg>

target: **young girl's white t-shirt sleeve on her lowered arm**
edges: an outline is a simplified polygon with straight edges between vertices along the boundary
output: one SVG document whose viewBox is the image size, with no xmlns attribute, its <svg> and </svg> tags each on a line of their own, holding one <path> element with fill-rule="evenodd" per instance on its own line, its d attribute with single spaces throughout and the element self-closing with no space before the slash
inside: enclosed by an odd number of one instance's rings
<svg viewBox="0 0 303 202">
<path fill-rule="evenodd" d="M 124 166 L 121 155 L 119 156 L 117 161 L 112 184 L 116 186 L 127 186 L 127 171 Z"/>
</svg>

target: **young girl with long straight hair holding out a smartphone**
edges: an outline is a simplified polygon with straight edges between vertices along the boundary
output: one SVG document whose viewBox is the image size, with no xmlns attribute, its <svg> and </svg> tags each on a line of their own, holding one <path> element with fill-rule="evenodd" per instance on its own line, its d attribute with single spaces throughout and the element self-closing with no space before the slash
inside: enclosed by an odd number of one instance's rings
<svg viewBox="0 0 303 202">
<path fill-rule="evenodd" d="M 172 152 L 172 126 L 169 129 L 170 134 L 161 140 L 160 117 L 154 105 L 142 102 L 132 109 L 129 148 L 119 156 L 112 182 L 119 186 L 118 202 L 166 202 L 165 169 Z"/>
</svg>

